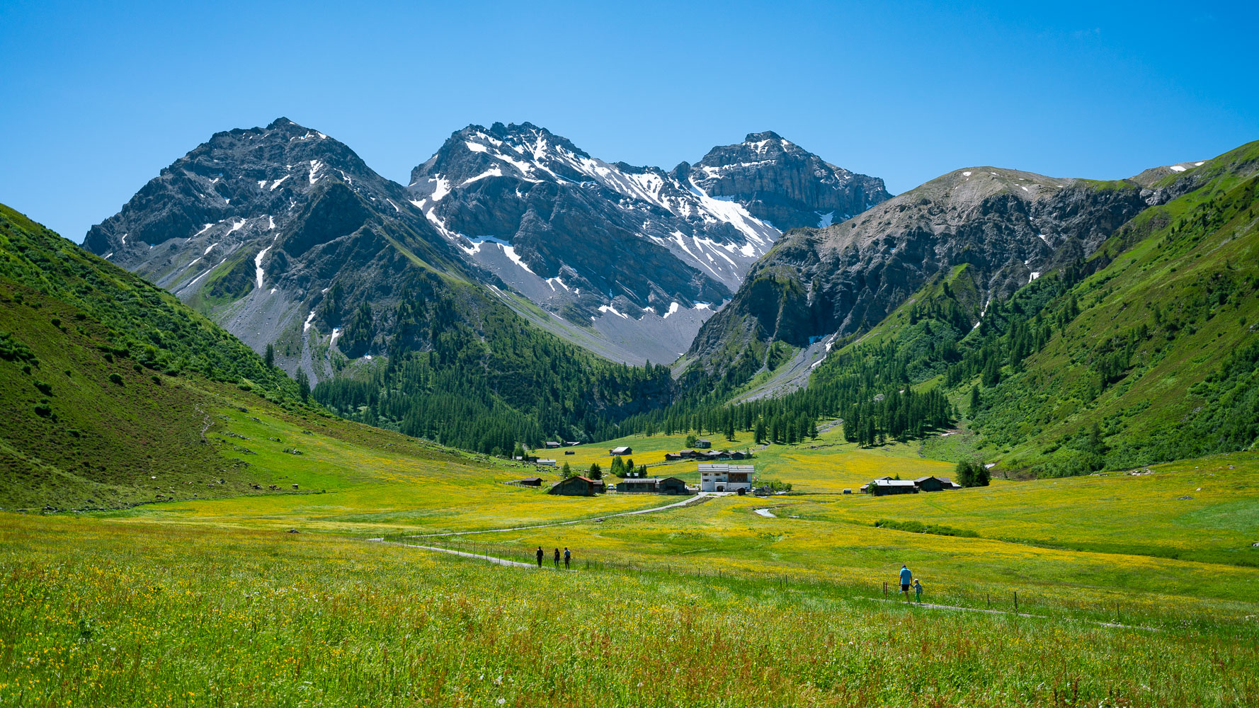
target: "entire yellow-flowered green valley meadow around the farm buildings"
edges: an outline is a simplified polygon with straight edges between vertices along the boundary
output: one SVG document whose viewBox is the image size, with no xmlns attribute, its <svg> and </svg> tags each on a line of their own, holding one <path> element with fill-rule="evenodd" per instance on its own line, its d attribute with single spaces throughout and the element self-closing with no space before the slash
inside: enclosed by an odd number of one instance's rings
<svg viewBox="0 0 1259 708">
<path fill-rule="evenodd" d="M 953 465 L 923 457 L 927 445 L 865 450 L 835 430 L 757 452 L 760 476 L 792 482 L 792 494 L 413 539 L 676 498 L 550 496 L 502 484 L 531 465 L 267 403 L 224 404 L 212 418 L 217 454 L 253 451 L 247 472 L 262 491 L 0 514 L 0 704 L 1259 700 L 1255 454 L 867 498 L 842 489 Z M 606 462 L 623 443 L 650 464 L 684 440 L 623 438 L 556 459 Z M 660 470 L 694 477 L 695 462 Z M 577 564 L 568 574 L 499 567 L 371 537 L 516 561 L 567 545 Z M 885 600 L 901 563 L 925 601 L 974 611 Z M 1030 616 L 1011 614 L 1015 593 Z"/>
</svg>

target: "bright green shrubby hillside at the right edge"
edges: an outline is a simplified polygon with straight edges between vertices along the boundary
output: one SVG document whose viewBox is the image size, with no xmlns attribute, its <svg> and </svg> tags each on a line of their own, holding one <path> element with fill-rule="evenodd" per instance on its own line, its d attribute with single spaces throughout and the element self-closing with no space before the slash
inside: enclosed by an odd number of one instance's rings
<svg viewBox="0 0 1259 708">
<path fill-rule="evenodd" d="M 980 385 L 972 427 L 1002 466 L 1071 474 L 1259 440 L 1259 144 L 1200 170 L 1201 186 L 1126 224 L 1078 282 L 1036 281 L 969 336 L 990 357 L 951 378 L 958 401 Z"/>
</svg>

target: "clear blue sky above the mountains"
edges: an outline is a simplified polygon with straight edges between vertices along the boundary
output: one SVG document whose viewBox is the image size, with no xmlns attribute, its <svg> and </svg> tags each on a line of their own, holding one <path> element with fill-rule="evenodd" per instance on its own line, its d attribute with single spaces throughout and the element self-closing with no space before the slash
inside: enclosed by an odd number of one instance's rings
<svg viewBox="0 0 1259 708">
<path fill-rule="evenodd" d="M 1253 1 L 107 5 L 0 3 L 0 202 L 74 241 L 213 132 L 278 116 L 402 183 L 494 121 L 666 169 L 774 130 L 894 193 L 1259 139 Z"/>
</svg>

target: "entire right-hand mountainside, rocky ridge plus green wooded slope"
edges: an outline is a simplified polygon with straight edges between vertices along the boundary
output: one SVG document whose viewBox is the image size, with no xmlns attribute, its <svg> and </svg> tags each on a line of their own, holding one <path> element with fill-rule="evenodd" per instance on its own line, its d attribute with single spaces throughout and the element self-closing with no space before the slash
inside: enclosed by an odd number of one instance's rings
<svg viewBox="0 0 1259 708">
<path fill-rule="evenodd" d="M 995 171 L 957 173 L 951 191 L 978 174 L 1008 180 L 1007 171 Z M 976 239 L 957 249 L 962 262 L 937 267 L 905 295 L 896 288 L 913 280 L 889 272 L 914 272 L 906 263 L 875 258 L 861 282 L 820 267 L 833 233 L 793 232 L 754 268 L 733 307 L 705 326 L 710 333 L 725 326 L 725 339 L 710 339 L 719 346 L 705 350 L 701 333 L 682 379 L 682 403 L 627 425 L 642 431 L 733 425 L 758 438 L 763 425 L 767 437 L 789 441 L 808 431 L 806 421 L 836 416 L 845 418 L 849 440 L 875 443 L 962 421 L 980 433 L 981 455 L 1040 475 L 1253 447 L 1259 437 L 1256 173 L 1259 144 L 1250 144 L 1115 183 L 1041 178 L 1075 191 L 1050 197 L 1047 205 L 1025 205 L 1006 184 L 956 228 L 982 236 L 1000 227 L 1001 238 L 1024 233 L 1029 252 L 1002 256 Z M 1008 181 L 1026 194 L 1019 183 L 1032 179 Z M 905 204 L 938 215 L 948 204 L 915 191 L 830 229 L 844 239 L 841 258 L 857 262 L 880 249 L 922 254 L 915 241 L 939 232 L 889 231 L 890 215 Z M 1054 203 L 1070 208 L 1055 215 Z M 872 227 L 862 227 L 865 219 Z M 1059 232 L 1029 229 L 1055 220 Z M 874 244 L 865 252 L 852 234 L 862 228 L 872 233 L 865 243 Z M 900 241 L 879 243 L 889 236 Z M 1022 285 L 1011 275 L 1019 272 Z M 772 316 L 753 307 L 745 291 L 754 288 L 773 290 L 769 305 L 759 299 Z M 859 305 L 832 315 L 826 299 L 835 294 Z M 889 314 L 870 326 L 869 312 L 880 307 Z M 857 310 L 866 314 L 857 317 Z M 725 365 L 705 368 L 714 360 Z M 801 360 L 803 374 L 792 370 Z M 807 388 L 764 398 L 771 384 L 789 391 L 792 377 Z M 782 432 L 774 436 L 773 428 Z M 974 451 L 962 446 L 956 454 Z"/>
</svg>

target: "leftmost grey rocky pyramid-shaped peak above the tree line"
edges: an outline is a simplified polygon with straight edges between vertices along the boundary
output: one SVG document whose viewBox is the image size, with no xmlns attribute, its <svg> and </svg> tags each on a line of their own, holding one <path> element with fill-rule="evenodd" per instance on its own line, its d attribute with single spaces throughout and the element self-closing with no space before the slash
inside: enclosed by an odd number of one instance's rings
<svg viewBox="0 0 1259 708">
<path fill-rule="evenodd" d="M 388 306 L 417 263 L 480 276 L 408 197 L 344 144 L 279 118 L 215 134 L 92 227 L 84 247 L 254 349 L 290 335 L 281 363 L 325 378 L 330 369 L 307 344 L 335 345 L 354 305 Z M 383 345 L 368 336 L 345 353 Z"/>
</svg>

